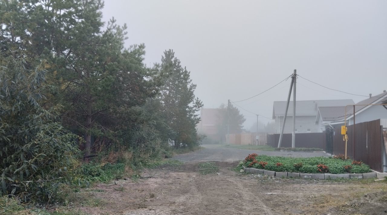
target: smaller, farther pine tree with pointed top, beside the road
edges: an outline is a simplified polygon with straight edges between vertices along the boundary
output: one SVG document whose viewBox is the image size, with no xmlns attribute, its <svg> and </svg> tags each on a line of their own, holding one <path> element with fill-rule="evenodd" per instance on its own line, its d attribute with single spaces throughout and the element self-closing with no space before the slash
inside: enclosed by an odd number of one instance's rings
<svg viewBox="0 0 387 215">
<path fill-rule="evenodd" d="M 161 58 L 160 73 L 166 78 L 161 87 L 161 100 L 166 112 L 166 120 L 175 135 L 170 139 L 175 147 L 198 144 L 196 125 L 200 121 L 199 110 L 203 106 L 199 98 L 195 98 L 196 85 L 190 79 L 190 72 L 181 66 L 175 58 L 173 50 L 164 51 Z"/>
</svg>

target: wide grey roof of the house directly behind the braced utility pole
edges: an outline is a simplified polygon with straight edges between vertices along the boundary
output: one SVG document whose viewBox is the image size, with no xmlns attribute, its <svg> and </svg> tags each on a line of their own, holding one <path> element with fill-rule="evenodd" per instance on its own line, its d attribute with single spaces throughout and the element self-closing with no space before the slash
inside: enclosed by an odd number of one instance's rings
<svg viewBox="0 0 387 215">
<path fill-rule="evenodd" d="M 318 107 L 345 106 L 353 104 L 354 102 L 352 99 L 296 101 L 296 116 L 315 116 L 317 115 Z M 276 116 L 284 116 L 285 110 L 286 101 L 274 102 L 273 119 L 275 119 Z M 293 102 L 289 103 L 288 116 L 293 116 Z"/>
</svg>

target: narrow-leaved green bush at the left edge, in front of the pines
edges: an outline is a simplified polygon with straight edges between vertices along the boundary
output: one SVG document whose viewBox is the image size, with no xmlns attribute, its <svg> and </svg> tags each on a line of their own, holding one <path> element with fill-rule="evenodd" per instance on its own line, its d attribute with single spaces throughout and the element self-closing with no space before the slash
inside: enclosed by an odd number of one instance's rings
<svg viewBox="0 0 387 215">
<path fill-rule="evenodd" d="M 44 84 L 44 63 L 8 57 L 2 58 L 2 65 L 0 196 L 53 199 L 76 163 L 81 139 L 57 122 L 57 107 L 38 103 L 49 88 Z"/>
</svg>

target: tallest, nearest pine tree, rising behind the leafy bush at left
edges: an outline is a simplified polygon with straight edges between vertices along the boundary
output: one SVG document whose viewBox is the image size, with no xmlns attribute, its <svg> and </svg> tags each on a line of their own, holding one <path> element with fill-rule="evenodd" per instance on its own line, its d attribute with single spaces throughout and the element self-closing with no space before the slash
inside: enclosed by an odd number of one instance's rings
<svg viewBox="0 0 387 215">
<path fill-rule="evenodd" d="M 102 30 L 101 0 L 2 0 L 0 41 L 5 55 L 24 52 L 48 64 L 56 86 L 46 106 L 61 105 L 65 125 L 91 136 L 113 136 L 122 108 L 142 105 L 157 86 L 143 64 L 143 44 L 124 48 L 126 25 Z M 22 21 L 21 21 L 22 20 Z"/>
</svg>

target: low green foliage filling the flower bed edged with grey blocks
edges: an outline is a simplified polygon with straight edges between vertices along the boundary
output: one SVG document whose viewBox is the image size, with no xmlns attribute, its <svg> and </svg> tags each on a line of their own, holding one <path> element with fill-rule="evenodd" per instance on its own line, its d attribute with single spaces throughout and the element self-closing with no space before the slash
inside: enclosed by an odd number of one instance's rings
<svg viewBox="0 0 387 215">
<path fill-rule="evenodd" d="M 351 165 L 350 173 L 369 173 L 371 168 L 362 163 L 361 165 L 352 164 L 351 159 L 341 160 L 332 157 L 277 157 L 267 155 L 255 156 L 255 161 L 250 159 L 243 162 L 243 166 L 262 169 L 260 161 L 267 162 L 266 170 L 277 172 L 300 172 L 300 173 L 322 173 L 319 171 L 317 165 L 324 164 L 328 167 L 328 173 L 342 174 L 348 173 L 344 168 L 346 165 Z M 251 166 L 250 163 L 254 162 Z M 296 165 L 295 165 L 296 164 Z"/>
</svg>

